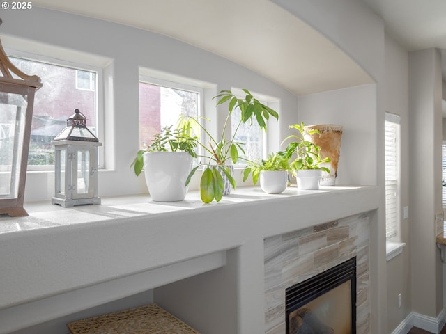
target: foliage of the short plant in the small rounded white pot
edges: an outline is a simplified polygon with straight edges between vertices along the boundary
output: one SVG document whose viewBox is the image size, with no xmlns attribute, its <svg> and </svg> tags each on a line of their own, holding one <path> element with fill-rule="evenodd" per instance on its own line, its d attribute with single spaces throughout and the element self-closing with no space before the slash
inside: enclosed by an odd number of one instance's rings
<svg viewBox="0 0 446 334">
<path fill-rule="evenodd" d="M 266 159 L 257 159 L 256 161 L 248 161 L 247 167 L 243 170 L 243 182 L 247 180 L 249 174 L 252 174 L 252 182 L 254 184 L 259 180 L 262 170 L 286 170 L 291 171 L 289 160 L 291 154 L 286 151 L 270 153 Z"/>
</svg>

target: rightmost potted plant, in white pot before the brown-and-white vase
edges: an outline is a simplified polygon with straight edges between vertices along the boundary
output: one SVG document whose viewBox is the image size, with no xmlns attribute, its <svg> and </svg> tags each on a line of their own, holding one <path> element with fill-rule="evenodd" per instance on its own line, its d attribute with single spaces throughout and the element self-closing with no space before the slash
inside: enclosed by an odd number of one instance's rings
<svg viewBox="0 0 446 334">
<path fill-rule="evenodd" d="M 298 130 L 298 134 L 292 134 L 284 139 L 287 141 L 292 138 L 296 141 L 289 143 L 286 152 L 289 154 L 296 154 L 296 158 L 291 162 L 293 174 L 298 182 L 298 189 L 319 189 L 319 180 L 321 179 L 321 172 L 330 173 L 330 170 L 324 166 L 323 163 L 330 162 L 330 158 L 321 158 L 321 148 L 305 140 L 307 134 L 318 134 L 317 129 L 305 129 L 304 123 L 290 125 L 290 129 Z M 283 143 L 283 142 L 282 142 Z"/>
</svg>

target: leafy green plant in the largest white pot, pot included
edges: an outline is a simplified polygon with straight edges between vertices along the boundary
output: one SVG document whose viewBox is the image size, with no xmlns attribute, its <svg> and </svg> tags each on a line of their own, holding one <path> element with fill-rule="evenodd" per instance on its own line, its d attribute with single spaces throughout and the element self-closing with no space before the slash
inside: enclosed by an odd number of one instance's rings
<svg viewBox="0 0 446 334">
<path fill-rule="evenodd" d="M 197 157 L 197 138 L 171 128 L 163 127 L 151 145 L 137 152 L 132 163 L 136 175 L 144 167 L 148 192 L 158 202 L 184 200 L 192 158 Z"/>
</svg>

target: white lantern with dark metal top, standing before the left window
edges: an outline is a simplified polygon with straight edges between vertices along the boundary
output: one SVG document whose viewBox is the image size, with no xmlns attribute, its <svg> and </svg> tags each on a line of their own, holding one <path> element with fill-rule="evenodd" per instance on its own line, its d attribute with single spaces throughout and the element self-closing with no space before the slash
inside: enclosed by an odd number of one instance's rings
<svg viewBox="0 0 446 334">
<path fill-rule="evenodd" d="M 52 204 L 63 207 L 100 204 L 98 198 L 98 138 L 86 127 L 79 111 L 68 118 L 67 127 L 54 138 L 56 150 L 55 195 Z"/>
</svg>

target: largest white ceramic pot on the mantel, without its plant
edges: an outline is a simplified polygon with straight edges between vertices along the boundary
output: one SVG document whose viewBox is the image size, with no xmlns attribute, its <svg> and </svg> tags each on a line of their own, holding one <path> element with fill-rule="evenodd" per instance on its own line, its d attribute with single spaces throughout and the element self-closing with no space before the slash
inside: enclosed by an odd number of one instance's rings
<svg viewBox="0 0 446 334">
<path fill-rule="evenodd" d="M 157 202 L 184 200 L 192 156 L 187 152 L 144 153 L 144 175 L 148 192 Z"/>
</svg>

